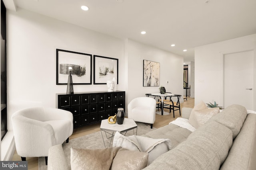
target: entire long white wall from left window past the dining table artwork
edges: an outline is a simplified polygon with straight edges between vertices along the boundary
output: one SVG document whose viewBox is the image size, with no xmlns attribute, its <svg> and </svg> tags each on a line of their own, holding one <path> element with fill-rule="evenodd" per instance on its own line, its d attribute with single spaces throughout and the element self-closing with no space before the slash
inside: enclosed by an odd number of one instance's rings
<svg viewBox="0 0 256 170">
<path fill-rule="evenodd" d="M 159 92 L 143 87 L 143 59 L 160 63 L 160 86 L 183 92 L 183 58 L 130 39 L 117 39 L 70 23 L 18 9 L 7 11 L 8 130 L 11 115 L 32 106 L 56 106 L 56 49 L 119 59 L 118 90 L 126 91 L 127 105 L 135 97 Z M 166 84 L 166 81 L 169 81 Z M 106 85 L 74 85 L 74 92 L 106 91 Z"/>
</svg>

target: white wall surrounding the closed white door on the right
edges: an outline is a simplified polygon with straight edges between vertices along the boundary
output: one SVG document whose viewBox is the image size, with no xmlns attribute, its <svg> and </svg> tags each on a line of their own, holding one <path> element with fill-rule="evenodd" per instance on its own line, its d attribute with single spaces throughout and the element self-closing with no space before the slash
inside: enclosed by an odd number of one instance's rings
<svg viewBox="0 0 256 170">
<path fill-rule="evenodd" d="M 216 101 L 223 105 L 223 54 L 255 50 L 256 34 L 230 39 L 195 48 L 195 104 L 201 100 L 208 103 Z M 239 69 L 239 68 L 238 68 Z M 256 55 L 254 55 L 254 73 Z M 254 74 L 254 89 L 256 74 Z M 254 101 L 256 90 L 254 90 Z M 256 106 L 254 106 L 256 108 Z"/>
</svg>

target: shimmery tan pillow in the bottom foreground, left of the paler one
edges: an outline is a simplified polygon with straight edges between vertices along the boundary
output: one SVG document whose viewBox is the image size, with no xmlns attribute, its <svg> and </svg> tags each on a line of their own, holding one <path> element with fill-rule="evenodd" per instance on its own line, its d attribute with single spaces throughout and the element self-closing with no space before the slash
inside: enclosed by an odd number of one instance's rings
<svg viewBox="0 0 256 170">
<path fill-rule="evenodd" d="M 112 160 L 121 147 L 105 149 L 70 149 L 70 164 L 72 170 L 109 170 Z"/>
</svg>

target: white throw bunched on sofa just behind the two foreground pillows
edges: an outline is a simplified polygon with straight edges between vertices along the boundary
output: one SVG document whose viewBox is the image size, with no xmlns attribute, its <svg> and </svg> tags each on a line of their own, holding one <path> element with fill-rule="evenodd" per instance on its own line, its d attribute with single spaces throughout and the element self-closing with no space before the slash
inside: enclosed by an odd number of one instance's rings
<svg viewBox="0 0 256 170">
<path fill-rule="evenodd" d="M 124 136 L 118 131 L 113 139 L 113 147 L 122 147 L 138 152 L 148 152 L 148 165 L 161 154 L 172 149 L 170 139 L 153 139 L 142 136 Z"/>
</svg>

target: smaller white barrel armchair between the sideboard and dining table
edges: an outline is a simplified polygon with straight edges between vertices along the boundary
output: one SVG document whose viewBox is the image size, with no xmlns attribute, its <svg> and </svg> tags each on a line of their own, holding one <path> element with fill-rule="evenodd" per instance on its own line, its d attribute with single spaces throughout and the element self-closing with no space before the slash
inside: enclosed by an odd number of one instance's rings
<svg viewBox="0 0 256 170">
<path fill-rule="evenodd" d="M 128 118 L 150 123 L 151 129 L 156 120 L 156 100 L 148 97 L 134 98 L 128 104 Z"/>
</svg>

